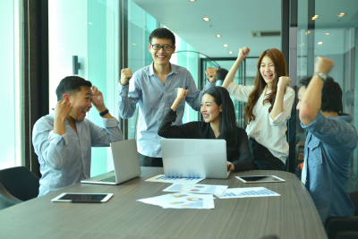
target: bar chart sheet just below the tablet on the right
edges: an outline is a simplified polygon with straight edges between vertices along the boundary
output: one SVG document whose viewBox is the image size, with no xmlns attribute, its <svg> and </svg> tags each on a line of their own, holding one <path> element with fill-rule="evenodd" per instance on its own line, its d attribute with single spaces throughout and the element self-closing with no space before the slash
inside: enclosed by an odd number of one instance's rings
<svg viewBox="0 0 358 239">
<path fill-rule="evenodd" d="M 219 199 L 234 199 L 234 198 L 254 198 L 254 197 L 272 197 L 280 196 L 277 192 L 273 192 L 264 187 L 252 188 L 229 188 L 226 192 L 217 195 Z"/>
</svg>

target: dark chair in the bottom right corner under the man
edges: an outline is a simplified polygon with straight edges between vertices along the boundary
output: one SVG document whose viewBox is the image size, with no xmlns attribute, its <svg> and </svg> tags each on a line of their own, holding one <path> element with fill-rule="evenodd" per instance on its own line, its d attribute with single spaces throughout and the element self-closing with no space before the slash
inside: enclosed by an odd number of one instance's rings
<svg viewBox="0 0 358 239">
<path fill-rule="evenodd" d="M 325 228 L 329 239 L 358 238 L 358 191 L 349 196 L 355 206 L 354 217 L 327 218 Z"/>
</svg>

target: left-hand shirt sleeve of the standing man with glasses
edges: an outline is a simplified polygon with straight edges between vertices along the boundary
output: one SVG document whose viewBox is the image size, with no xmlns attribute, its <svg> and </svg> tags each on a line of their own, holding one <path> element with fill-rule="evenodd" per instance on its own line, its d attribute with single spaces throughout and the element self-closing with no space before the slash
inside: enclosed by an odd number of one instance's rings
<svg viewBox="0 0 358 239">
<path fill-rule="evenodd" d="M 121 82 L 118 82 L 118 114 L 124 119 L 132 117 L 140 97 L 141 81 L 139 81 L 137 73 L 132 75 L 131 81 L 129 81 L 129 83 L 125 86 L 123 86 Z"/>
</svg>

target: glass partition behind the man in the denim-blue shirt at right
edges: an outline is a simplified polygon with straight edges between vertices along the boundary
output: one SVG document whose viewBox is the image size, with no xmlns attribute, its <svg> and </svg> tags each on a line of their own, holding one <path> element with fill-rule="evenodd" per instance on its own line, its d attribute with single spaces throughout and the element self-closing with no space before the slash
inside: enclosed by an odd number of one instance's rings
<svg viewBox="0 0 358 239">
<path fill-rule="evenodd" d="M 316 56 L 323 56 L 335 63 L 331 76 L 343 90 L 343 112 L 354 115 L 358 127 L 358 104 L 355 85 L 358 84 L 358 17 L 355 1 L 297 1 L 297 84 L 313 73 Z M 315 17 L 316 16 L 316 17 Z M 291 42 L 295 39 L 291 38 Z M 296 88 L 300 88 L 297 85 Z M 355 104 L 354 104 L 355 103 Z M 303 162 L 306 132 L 296 114 L 296 165 Z M 348 188 L 358 190 L 358 150 L 351 157 Z M 298 176 L 301 172 L 298 171 Z"/>
</svg>

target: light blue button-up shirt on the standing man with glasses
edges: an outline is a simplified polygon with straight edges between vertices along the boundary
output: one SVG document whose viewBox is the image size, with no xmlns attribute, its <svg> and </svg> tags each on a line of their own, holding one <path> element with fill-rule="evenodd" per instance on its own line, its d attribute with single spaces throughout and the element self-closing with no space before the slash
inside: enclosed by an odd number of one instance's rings
<svg viewBox="0 0 358 239">
<path fill-rule="evenodd" d="M 145 156 L 161 158 L 158 127 L 167 110 L 172 107 L 177 95 L 177 89 L 189 90 L 185 101 L 196 111 L 200 111 L 201 98 L 206 90 L 214 84 L 209 81 L 203 90 L 198 90 L 192 79 L 192 74 L 181 66 L 170 64 L 171 72 L 166 77 L 166 85 L 156 73 L 153 63 L 135 72 L 126 86 L 118 84 L 118 113 L 122 118 L 132 117 L 136 104 L 139 104 L 137 127 L 138 151 Z M 176 109 L 177 118 L 173 125 L 183 124 L 185 102 L 182 101 Z"/>
</svg>

